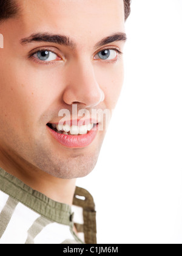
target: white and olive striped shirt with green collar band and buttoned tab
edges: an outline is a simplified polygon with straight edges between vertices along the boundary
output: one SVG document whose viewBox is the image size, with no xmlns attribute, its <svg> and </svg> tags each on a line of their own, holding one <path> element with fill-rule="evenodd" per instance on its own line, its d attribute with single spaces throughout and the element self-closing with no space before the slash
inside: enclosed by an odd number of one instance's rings
<svg viewBox="0 0 182 256">
<path fill-rule="evenodd" d="M 76 188 L 70 207 L 0 168 L 0 244 L 96 243 L 95 216 L 93 198 L 86 190 Z"/>
</svg>

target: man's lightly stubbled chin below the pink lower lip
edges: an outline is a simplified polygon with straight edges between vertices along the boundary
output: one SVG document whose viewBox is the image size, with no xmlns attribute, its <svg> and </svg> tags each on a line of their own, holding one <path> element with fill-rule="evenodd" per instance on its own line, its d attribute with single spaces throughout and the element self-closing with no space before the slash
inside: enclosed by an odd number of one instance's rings
<svg viewBox="0 0 182 256">
<path fill-rule="evenodd" d="M 102 144 L 103 138 L 88 148 L 71 151 L 58 151 L 39 144 L 34 151 L 33 165 L 59 179 L 86 177 L 95 168 Z"/>
</svg>

